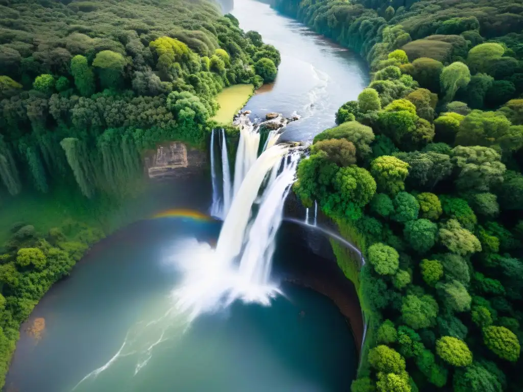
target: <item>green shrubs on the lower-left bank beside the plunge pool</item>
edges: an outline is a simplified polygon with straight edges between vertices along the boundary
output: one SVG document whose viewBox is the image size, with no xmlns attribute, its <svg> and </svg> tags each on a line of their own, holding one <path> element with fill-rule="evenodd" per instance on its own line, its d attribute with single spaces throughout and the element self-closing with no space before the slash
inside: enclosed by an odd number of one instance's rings
<svg viewBox="0 0 523 392">
<path fill-rule="evenodd" d="M 0 256 L 0 382 L 15 350 L 20 323 L 25 321 L 51 285 L 69 274 L 75 262 L 104 236 L 99 229 L 68 221 L 49 233 L 17 223 Z"/>
</svg>

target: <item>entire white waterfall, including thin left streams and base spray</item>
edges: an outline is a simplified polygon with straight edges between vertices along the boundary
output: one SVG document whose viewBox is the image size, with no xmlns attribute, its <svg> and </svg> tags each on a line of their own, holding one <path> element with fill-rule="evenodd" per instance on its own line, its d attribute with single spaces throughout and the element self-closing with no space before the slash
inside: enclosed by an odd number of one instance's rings
<svg viewBox="0 0 523 392">
<path fill-rule="evenodd" d="M 184 258 L 187 263 L 180 266 L 184 281 L 174 296 L 177 307 L 190 312 L 191 317 L 223 308 L 236 299 L 268 305 L 279 292 L 270 281 L 275 236 L 301 155 L 297 148 L 275 144 L 287 122 L 277 117 L 263 123 L 268 131 L 262 135 L 259 125 L 247 116 L 237 119 L 240 140 L 234 176 L 225 131 L 211 135 L 211 213 L 223 219 L 223 226 L 215 249 L 199 244 L 195 254 L 195 248 L 190 247 L 191 254 Z M 214 156 L 217 141 L 221 159 Z M 219 162 L 223 181 L 218 179 Z"/>
</svg>

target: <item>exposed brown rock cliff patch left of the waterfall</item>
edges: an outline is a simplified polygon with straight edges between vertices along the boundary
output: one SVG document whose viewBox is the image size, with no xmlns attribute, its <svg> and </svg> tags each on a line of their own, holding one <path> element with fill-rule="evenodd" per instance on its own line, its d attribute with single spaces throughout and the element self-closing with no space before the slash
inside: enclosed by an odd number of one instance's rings
<svg viewBox="0 0 523 392">
<path fill-rule="evenodd" d="M 144 166 L 149 178 L 186 177 L 206 170 L 207 154 L 185 143 L 168 142 L 145 155 Z"/>
</svg>

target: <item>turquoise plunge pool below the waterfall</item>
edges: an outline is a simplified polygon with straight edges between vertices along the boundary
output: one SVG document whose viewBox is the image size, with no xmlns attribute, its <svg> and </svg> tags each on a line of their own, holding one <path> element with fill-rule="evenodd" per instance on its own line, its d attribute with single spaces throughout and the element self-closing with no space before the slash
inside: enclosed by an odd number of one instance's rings
<svg viewBox="0 0 523 392">
<path fill-rule="evenodd" d="M 22 331 L 6 386 L 27 392 L 347 390 L 357 365 L 354 340 L 334 304 L 315 292 L 284 285 L 285 295 L 269 307 L 234 303 L 192 324 L 176 313 L 165 316 L 179 279 L 180 240 L 212 244 L 219 228 L 164 218 L 101 241 L 32 313 L 29 324 L 41 317 L 46 329 L 40 339 Z"/>
</svg>

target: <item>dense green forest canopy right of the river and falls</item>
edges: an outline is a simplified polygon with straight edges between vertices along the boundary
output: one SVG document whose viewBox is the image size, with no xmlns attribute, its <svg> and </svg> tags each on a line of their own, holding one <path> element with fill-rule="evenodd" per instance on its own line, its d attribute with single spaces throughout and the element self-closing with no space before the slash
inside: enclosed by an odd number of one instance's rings
<svg viewBox="0 0 523 392">
<path fill-rule="evenodd" d="M 353 392 L 523 390 L 523 3 L 276 0 L 372 82 L 298 167 L 368 322 Z"/>
</svg>

